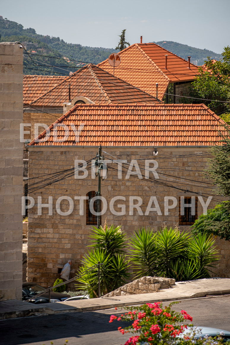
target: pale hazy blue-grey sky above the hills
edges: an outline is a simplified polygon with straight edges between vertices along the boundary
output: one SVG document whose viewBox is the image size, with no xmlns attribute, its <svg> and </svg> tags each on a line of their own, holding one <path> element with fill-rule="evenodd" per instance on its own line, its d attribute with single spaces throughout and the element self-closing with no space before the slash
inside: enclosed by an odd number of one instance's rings
<svg viewBox="0 0 230 345">
<path fill-rule="evenodd" d="M 83 46 L 114 48 L 123 29 L 130 44 L 230 45 L 230 0 L 0 0 L 0 15 Z"/>
</svg>

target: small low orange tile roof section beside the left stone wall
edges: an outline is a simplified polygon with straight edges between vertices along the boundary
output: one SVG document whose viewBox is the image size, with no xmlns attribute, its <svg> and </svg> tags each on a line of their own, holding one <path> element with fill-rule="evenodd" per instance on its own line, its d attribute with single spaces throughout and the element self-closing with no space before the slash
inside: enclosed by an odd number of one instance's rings
<svg viewBox="0 0 230 345">
<path fill-rule="evenodd" d="M 34 101 L 45 92 L 57 86 L 66 77 L 63 76 L 23 76 L 23 103 Z"/>
</svg>

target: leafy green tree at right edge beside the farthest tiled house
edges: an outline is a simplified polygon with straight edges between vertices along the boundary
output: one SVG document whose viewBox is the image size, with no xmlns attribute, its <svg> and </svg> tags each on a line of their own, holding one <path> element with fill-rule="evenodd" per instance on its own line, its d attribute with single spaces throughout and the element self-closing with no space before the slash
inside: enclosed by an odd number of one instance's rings
<svg viewBox="0 0 230 345">
<path fill-rule="evenodd" d="M 203 98 L 204 103 L 218 113 L 230 112 L 230 103 L 220 102 L 230 101 L 229 46 L 224 48 L 222 56 L 223 58 L 220 61 L 215 61 L 208 57 L 208 60 L 205 61 L 206 70 L 200 67 L 200 75 L 192 83 L 198 97 Z"/>
</svg>

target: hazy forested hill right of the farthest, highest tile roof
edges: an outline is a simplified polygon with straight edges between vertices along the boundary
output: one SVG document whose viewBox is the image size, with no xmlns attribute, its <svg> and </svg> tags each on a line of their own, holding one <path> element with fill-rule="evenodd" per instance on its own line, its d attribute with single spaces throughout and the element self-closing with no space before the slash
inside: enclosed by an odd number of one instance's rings
<svg viewBox="0 0 230 345">
<path fill-rule="evenodd" d="M 214 51 L 207 49 L 199 49 L 187 46 L 185 44 L 173 42 L 173 41 L 159 41 L 155 42 L 159 46 L 171 51 L 172 53 L 180 56 L 181 58 L 188 60 L 188 56 L 191 56 L 191 61 L 195 65 L 203 65 L 207 57 L 210 56 L 212 59 L 219 60 L 221 54 L 217 54 Z"/>
</svg>

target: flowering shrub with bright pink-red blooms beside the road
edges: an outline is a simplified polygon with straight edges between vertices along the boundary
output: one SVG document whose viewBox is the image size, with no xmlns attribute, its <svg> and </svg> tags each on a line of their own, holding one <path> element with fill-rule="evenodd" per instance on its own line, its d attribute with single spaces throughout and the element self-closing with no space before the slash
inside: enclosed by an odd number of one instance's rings
<svg viewBox="0 0 230 345">
<path fill-rule="evenodd" d="M 139 307 L 125 307 L 127 313 L 120 317 L 111 315 L 109 322 L 113 321 L 132 321 L 131 326 L 118 327 L 121 334 L 138 333 L 131 336 L 124 345 L 219 345 L 222 344 L 222 338 L 197 338 L 197 331 L 193 330 L 192 324 L 184 324 L 187 320 L 192 321 L 192 317 L 185 311 L 180 313 L 171 310 L 171 305 L 162 306 L 161 302 L 146 303 Z M 117 308 L 115 308 L 117 309 Z M 191 327 L 189 333 L 183 335 L 184 329 Z"/>
</svg>

